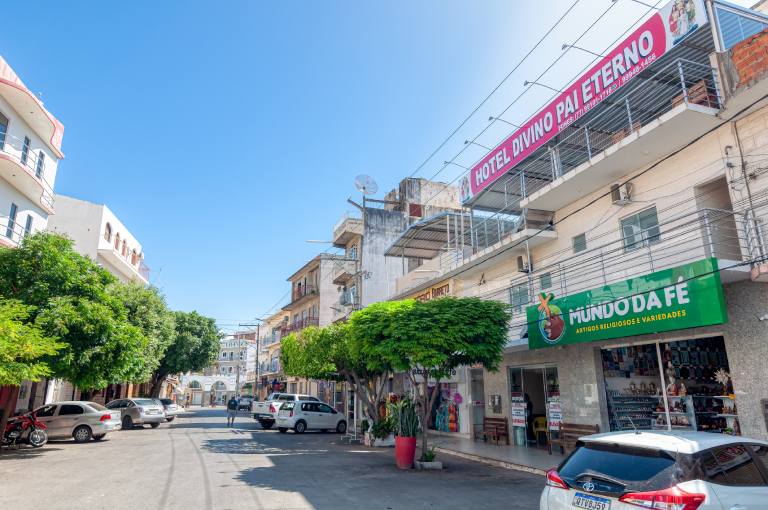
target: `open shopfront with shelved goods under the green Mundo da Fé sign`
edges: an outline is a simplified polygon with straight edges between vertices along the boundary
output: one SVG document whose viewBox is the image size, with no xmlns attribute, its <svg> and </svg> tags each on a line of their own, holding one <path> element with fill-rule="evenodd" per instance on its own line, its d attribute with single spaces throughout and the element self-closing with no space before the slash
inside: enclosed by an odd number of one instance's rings
<svg viewBox="0 0 768 510">
<path fill-rule="evenodd" d="M 723 337 L 602 349 L 611 430 L 740 434 Z"/>
</svg>

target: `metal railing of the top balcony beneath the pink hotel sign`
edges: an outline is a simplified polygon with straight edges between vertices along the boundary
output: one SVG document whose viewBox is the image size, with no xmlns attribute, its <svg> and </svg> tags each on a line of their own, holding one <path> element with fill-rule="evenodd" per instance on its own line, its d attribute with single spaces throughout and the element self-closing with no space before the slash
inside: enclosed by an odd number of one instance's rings
<svg viewBox="0 0 768 510">
<path fill-rule="evenodd" d="M 515 207 L 550 182 L 621 143 L 643 126 L 681 104 L 721 108 L 715 69 L 678 59 L 642 79 L 619 99 L 604 99 L 587 122 L 578 119 L 534 159 L 523 162 L 504 183 L 506 206 Z"/>
</svg>

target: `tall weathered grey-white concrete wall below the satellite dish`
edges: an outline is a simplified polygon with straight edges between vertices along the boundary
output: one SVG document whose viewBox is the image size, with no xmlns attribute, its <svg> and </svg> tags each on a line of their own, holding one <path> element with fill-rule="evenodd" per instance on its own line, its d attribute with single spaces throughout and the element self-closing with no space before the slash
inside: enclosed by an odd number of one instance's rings
<svg viewBox="0 0 768 510">
<path fill-rule="evenodd" d="M 395 293 L 395 280 L 402 274 L 402 261 L 384 252 L 405 229 L 403 214 L 366 208 L 361 261 L 361 305 L 384 301 Z"/>
</svg>

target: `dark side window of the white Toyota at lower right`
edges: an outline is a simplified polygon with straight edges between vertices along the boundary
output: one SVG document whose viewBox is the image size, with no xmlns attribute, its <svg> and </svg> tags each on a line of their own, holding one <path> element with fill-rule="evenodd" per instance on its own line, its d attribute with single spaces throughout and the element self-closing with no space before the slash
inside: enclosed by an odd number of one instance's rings
<svg viewBox="0 0 768 510">
<path fill-rule="evenodd" d="M 704 471 L 709 481 L 734 487 L 766 485 L 747 447 L 730 444 L 714 448 L 704 454 Z"/>
</svg>

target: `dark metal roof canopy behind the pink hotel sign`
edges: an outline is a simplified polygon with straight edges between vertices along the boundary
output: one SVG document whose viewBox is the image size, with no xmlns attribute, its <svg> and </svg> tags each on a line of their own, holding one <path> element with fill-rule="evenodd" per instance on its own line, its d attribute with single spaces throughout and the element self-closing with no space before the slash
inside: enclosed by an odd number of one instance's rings
<svg viewBox="0 0 768 510">
<path fill-rule="evenodd" d="M 571 124 L 570 127 L 579 128 L 585 124 L 589 124 L 590 129 L 600 130 L 602 128 L 606 133 L 615 130 L 616 117 L 613 115 L 606 115 L 606 110 L 608 108 L 621 108 L 623 110 L 624 101 L 630 93 L 633 93 L 632 98 L 630 98 L 633 107 L 641 108 L 643 97 L 655 97 L 656 95 L 668 91 L 670 87 L 669 83 L 657 79 L 656 75 L 660 69 L 679 59 L 710 65 L 709 55 L 713 51 L 715 51 L 715 41 L 712 36 L 710 23 L 707 23 L 685 41 L 679 43 L 652 65 L 640 72 L 631 83 L 620 88 L 603 100 L 599 105 L 580 117 L 579 120 Z M 566 85 L 564 89 L 569 85 L 570 83 Z M 641 88 L 642 91 L 638 94 L 638 90 Z M 660 114 L 661 113 L 662 112 L 660 112 Z M 517 131 L 517 129 L 511 131 L 503 140 L 506 140 L 515 131 Z M 517 174 L 524 170 L 526 180 L 552 181 L 549 149 L 562 141 L 563 134 L 571 135 L 572 131 L 569 131 L 568 129 L 563 130 L 561 134 L 555 136 L 548 143 L 539 147 L 528 158 L 507 170 L 507 175 L 472 197 L 464 205 L 481 211 L 495 212 L 506 209 L 506 212 L 518 213 L 520 209 L 517 204 L 519 204 L 522 197 L 508 194 L 509 189 L 514 190 L 520 188 L 519 183 L 514 182 L 519 180 Z M 496 150 L 496 147 L 498 147 L 502 141 L 494 146 L 494 150 Z M 564 158 L 562 159 L 561 163 L 563 168 L 570 168 L 571 164 L 569 161 Z M 476 164 L 477 162 L 472 164 L 470 168 L 473 168 Z"/>
</svg>

